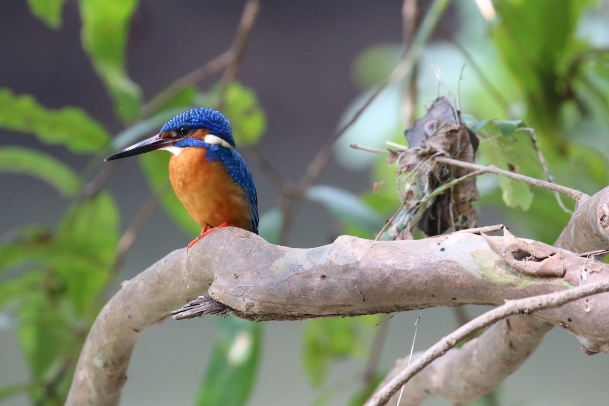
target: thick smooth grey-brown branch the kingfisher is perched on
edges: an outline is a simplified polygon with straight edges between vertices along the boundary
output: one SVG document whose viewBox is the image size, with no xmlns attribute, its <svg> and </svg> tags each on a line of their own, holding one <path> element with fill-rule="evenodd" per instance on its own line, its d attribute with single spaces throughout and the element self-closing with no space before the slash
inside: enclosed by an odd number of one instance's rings
<svg viewBox="0 0 609 406">
<path fill-rule="evenodd" d="M 581 271 L 567 269 L 565 278 L 577 284 Z M 585 282 L 607 275 L 603 268 Z M 227 227 L 188 253 L 177 250 L 164 257 L 108 302 L 83 347 L 67 404 L 118 404 L 141 332 L 205 293 L 239 317 L 287 320 L 498 305 L 504 298 L 563 289 L 563 279 L 523 275 L 509 267 L 475 234 L 392 242 L 342 236 L 323 247 L 298 249 Z M 535 315 L 577 335 L 584 346 L 609 351 L 607 310 L 609 297 L 603 294 Z"/>
</svg>

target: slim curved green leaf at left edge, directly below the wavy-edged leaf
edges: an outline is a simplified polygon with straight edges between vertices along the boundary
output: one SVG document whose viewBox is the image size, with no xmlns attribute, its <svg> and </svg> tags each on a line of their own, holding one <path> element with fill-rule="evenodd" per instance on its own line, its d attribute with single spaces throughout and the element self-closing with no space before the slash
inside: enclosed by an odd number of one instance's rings
<svg viewBox="0 0 609 406">
<path fill-rule="evenodd" d="M 0 173 L 20 173 L 40 178 L 66 197 L 80 191 L 80 178 L 72 169 L 46 153 L 22 147 L 0 147 Z"/>
</svg>

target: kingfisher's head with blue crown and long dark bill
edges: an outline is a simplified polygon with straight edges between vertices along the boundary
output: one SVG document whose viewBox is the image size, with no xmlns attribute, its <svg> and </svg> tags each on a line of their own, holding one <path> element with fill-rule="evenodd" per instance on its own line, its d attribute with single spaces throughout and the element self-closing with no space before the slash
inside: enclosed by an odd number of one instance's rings
<svg viewBox="0 0 609 406">
<path fill-rule="evenodd" d="M 158 149 L 177 155 L 183 148 L 208 145 L 221 145 L 229 149 L 235 147 L 230 121 L 224 114 L 211 108 L 193 108 L 167 121 L 157 135 L 122 149 L 104 160 L 111 161 Z"/>
</svg>

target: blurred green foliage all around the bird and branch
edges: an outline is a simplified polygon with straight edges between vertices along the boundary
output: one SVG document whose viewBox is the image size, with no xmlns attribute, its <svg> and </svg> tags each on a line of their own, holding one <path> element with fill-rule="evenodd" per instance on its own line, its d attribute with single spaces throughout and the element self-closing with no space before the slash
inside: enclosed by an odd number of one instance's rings
<svg viewBox="0 0 609 406">
<path fill-rule="evenodd" d="M 28 0 L 33 15 L 52 29 L 61 25 L 64 2 Z M 138 1 L 80 0 L 79 4 L 83 49 L 112 97 L 124 130 L 110 145 L 108 131 L 82 109 L 52 110 L 33 96 L 15 95 L 9 89 L 0 89 L 0 128 L 89 155 L 91 166 L 97 168 L 102 164 L 95 155 L 100 150 L 119 149 L 149 136 L 167 119 L 195 105 L 222 106 L 233 122 L 238 145 L 259 141 L 267 125 L 264 110 L 255 90 L 236 82 L 218 84 L 204 93 L 185 86 L 144 114 L 139 86 L 125 69 L 128 24 Z M 423 100 L 417 103 L 420 113 L 438 92 L 438 80 L 427 62 L 435 60 L 442 66 L 443 80 L 449 83 L 448 77 L 459 77 L 461 69 L 454 60 L 465 59 L 465 77 L 473 80 L 460 91 L 462 111 L 478 119 L 499 116 L 502 120 L 471 119 L 481 139 L 481 163 L 543 177 L 539 148 L 558 183 L 588 193 L 599 190 L 609 180 L 609 143 L 601 138 L 609 132 L 609 52 L 580 34 L 594 2 L 498 0 L 495 5 L 496 21 L 485 23 L 473 9 L 474 2 L 455 2 L 467 23 L 454 38 L 436 41 L 426 49 L 416 75 L 418 96 Z M 594 32 L 593 28 L 587 32 Z M 345 109 L 343 123 L 403 55 L 404 50 L 395 44 L 362 51 L 353 68 L 362 95 Z M 382 148 L 387 140 L 404 144 L 403 130 L 412 123 L 403 123 L 400 116 L 403 93 L 403 84 L 382 91 L 334 150 L 349 169 L 371 169 L 370 183 L 376 183 L 379 191 L 357 196 L 340 187 L 317 185 L 306 195 L 350 234 L 373 237 L 382 221 L 400 207 L 393 168 L 384 156 L 351 150 L 348 145 L 357 142 Z M 535 128 L 538 145 L 533 144 L 525 122 Z M 169 154 L 146 154 L 141 156 L 141 166 L 164 209 L 189 234 L 197 234 L 199 227 L 168 184 L 167 159 Z M 0 172 L 40 178 L 71 200 L 57 227 L 24 225 L 0 243 L 0 308 L 15 320 L 32 377 L 29 383 L 0 388 L 0 400 L 28 391 L 34 404 L 63 404 L 86 332 L 104 303 L 105 288 L 116 276 L 118 210 L 105 191 L 83 189 L 88 179 L 82 173 L 36 150 L 0 148 Z M 490 175 L 479 181 L 479 187 L 479 207 L 501 211 L 498 222 L 513 223 L 530 237 L 552 242 L 568 220 L 549 192 Z M 262 213 L 261 235 L 275 242 L 282 222 L 279 208 Z M 317 404 L 328 404 L 333 397 L 335 388 L 328 373 L 332 363 L 378 351 L 370 346 L 376 333 L 371 327 L 378 320 L 338 318 L 303 324 L 305 371 L 315 387 L 328 388 Z M 262 324 L 228 318 L 219 320 L 218 326 L 197 404 L 242 405 L 255 382 Z M 378 373 L 362 382 L 351 404 L 361 404 L 381 376 Z"/>
</svg>

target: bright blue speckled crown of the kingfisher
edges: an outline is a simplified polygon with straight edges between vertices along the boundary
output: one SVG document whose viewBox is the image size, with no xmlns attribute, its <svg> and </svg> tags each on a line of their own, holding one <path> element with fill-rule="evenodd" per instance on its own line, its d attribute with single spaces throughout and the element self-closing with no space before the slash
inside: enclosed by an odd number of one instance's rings
<svg viewBox="0 0 609 406">
<path fill-rule="evenodd" d="M 227 117 L 219 111 L 211 108 L 193 108 L 192 110 L 180 113 L 171 120 L 167 121 L 160 133 L 163 134 L 167 131 L 176 131 L 178 128 L 185 126 L 191 130 L 197 130 L 198 128 L 207 128 L 209 134 L 219 136 L 228 142 L 228 144 L 234 145 L 233 132 L 231 131 L 230 121 Z"/>
</svg>

